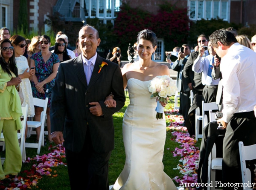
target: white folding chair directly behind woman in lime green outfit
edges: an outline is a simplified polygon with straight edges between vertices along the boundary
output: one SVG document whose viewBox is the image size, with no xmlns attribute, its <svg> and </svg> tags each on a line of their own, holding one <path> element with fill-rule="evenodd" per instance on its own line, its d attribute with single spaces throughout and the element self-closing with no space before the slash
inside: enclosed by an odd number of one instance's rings
<svg viewBox="0 0 256 190">
<path fill-rule="evenodd" d="M 17 132 L 17 136 L 18 139 L 20 139 L 20 152 L 22 155 L 22 160 L 26 160 L 26 150 L 25 150 L 25 129 L 26 129 L 26 120 L 27 120 L 27 116 L 28 116 L 28 109 L 29 106 L 26 104 L 25 107 L 21 107 L 22 109 L 22 116 L 23 116 L 23 121 L 21 121 L 22 124 L 22 129 L 20 130 L 20 132 Z M 0 137 L 0 141 L 4 141 L 4 136 L 3 136 L 3 132 L 1 132 L 1 137 Z M 5 158 L 1 158 L 1 163 L 3 164 L 3 162 L 5 161 Z"/>
</svg>

